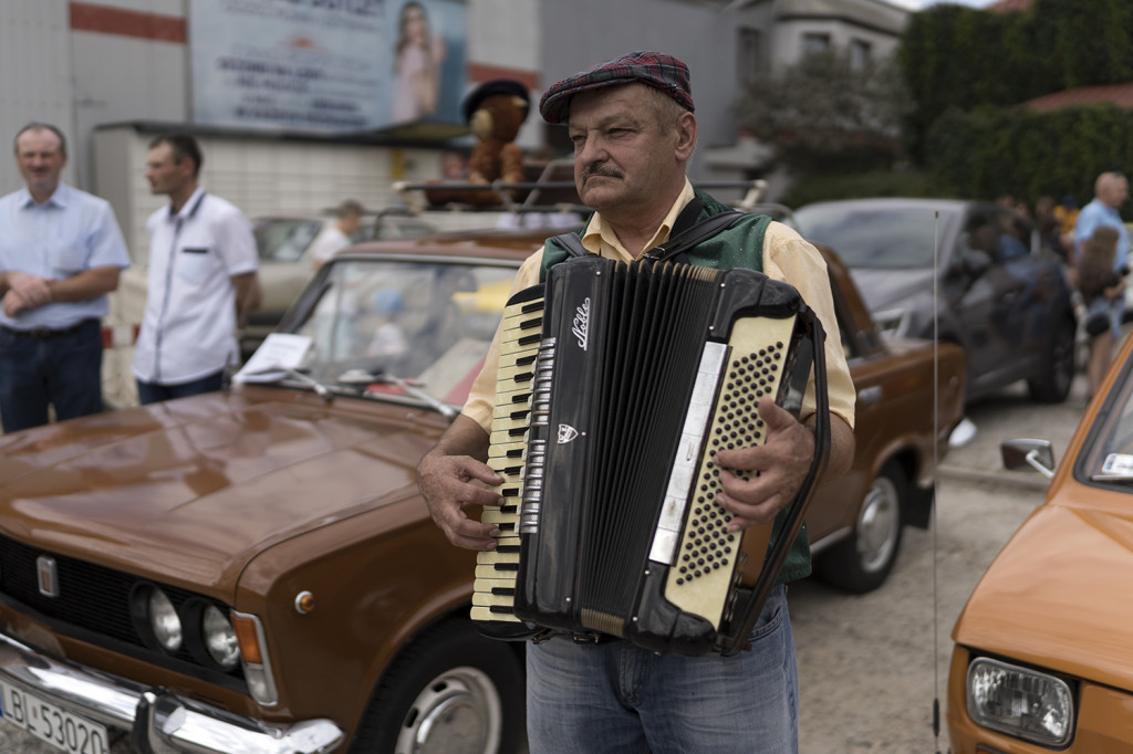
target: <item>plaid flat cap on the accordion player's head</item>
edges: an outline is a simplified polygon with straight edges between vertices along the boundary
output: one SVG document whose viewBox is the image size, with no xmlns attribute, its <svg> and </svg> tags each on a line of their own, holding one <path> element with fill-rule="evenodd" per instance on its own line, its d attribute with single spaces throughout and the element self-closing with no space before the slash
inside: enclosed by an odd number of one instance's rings
<svg viewBox="0 0 1133 754">
<path fill-rule="evenodd" d="M 689 67 L 661 52 L 630 52 L 587 68 L 559 82 L 539 101 L 539 114 L 548 123 L 563 123 L 570 114 L 570 98 L 579 92 L 639 82 L 656 87 L 692 112 Z"/>
</svg>

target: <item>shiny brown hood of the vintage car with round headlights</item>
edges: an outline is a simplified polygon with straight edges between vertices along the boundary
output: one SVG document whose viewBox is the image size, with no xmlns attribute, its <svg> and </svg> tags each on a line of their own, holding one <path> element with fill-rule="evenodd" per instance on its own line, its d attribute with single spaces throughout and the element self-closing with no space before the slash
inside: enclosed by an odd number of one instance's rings
<svg viewBox="0 0 1133 754">
<path fill-rule="evenodd" d="M 403 408 L 359 403 L 258 387 L 0 437 L 0 529 L 230 594 L 272 543 L 416 492 L 429 440 Z"/>
</svg>

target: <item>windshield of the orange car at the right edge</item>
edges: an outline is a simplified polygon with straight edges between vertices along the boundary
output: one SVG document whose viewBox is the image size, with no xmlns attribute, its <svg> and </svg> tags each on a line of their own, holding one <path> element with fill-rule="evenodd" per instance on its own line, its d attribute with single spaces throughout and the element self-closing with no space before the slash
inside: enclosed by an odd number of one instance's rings
<svg viewBox="0 0 1133 754">
<path fill-rule="evenodd" d="M 1122 372 L 1093 422 L 1079 454 L 1075 475 L 1082 481 L 1133 482 L 1133 360 Z"/>
</svg>

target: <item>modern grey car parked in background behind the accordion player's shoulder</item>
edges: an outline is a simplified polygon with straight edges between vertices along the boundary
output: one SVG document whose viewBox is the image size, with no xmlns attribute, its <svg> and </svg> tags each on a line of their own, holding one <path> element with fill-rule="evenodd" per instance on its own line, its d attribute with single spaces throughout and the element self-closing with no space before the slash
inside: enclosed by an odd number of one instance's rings
<svg viewBox="0 0 1133 754">
<path fill-rule="evenodd" d="M 969 402 L 1021 379 L 1036 401 L 1066 400 L 1071 288 L 1028 217 L 985 202 L 876 198 L 809 204 L 794 222 L 837 251 L 883 332 L 964 349 Z"/>
</svg>

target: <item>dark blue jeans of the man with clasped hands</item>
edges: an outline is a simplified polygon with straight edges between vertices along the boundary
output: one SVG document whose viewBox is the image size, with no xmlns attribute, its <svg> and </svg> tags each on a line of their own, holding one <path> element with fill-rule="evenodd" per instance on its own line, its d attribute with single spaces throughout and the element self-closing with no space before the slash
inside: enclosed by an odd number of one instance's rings
<svg viewBox="0 0 1133 754">
<path fill-rule="evenodd" d="M 0 421 L 6 432 L 102 411 L 102 328 L 97 319 L 51 339 L 0 329 Z"/>
</svg>

